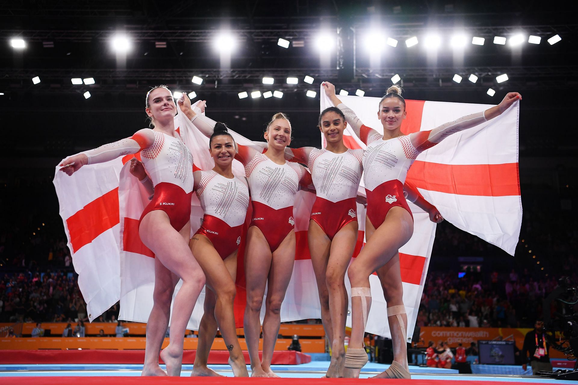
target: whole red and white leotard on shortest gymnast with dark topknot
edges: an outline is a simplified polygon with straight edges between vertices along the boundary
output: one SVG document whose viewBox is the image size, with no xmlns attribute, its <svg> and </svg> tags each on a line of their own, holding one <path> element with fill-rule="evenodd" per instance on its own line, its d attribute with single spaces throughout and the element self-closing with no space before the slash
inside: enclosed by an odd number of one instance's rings
<svg viewBox="0 0 578 385">
<path fill-rule="evenodd" d="M 226 178 L 214 170 L 195 171 L 199 185 L 195 192 L 205 215 L 197 233 L 212 242 L 225 259 L 241 242 L 243 223 L 249 207 L 249 186 L 245 178 Z"/>
</svg>

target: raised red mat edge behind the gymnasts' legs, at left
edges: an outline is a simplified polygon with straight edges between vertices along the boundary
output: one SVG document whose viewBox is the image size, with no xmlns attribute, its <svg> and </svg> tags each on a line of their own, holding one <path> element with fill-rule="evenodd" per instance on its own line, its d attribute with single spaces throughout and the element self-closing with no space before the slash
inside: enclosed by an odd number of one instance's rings
<svg viewBox="0 0 578 385">
<path fill-rule="evenodd" d="M 183 364 L 192 364 L 195 353 L 195 350 L 185 350 Z M 249 353 L 243 354 L 249 364 Z M 209 353 L 209 364 L 227 364 L 228 359 L 229 352 L 223 350 Z M 1 361 L 2 364 L 142 364 L 144 350 L 2 350 Z M 286 350 L 273 353 L 271 364 L 299 365 L 307 362 L 311 362 L 308 354 Z"/>
</svg>

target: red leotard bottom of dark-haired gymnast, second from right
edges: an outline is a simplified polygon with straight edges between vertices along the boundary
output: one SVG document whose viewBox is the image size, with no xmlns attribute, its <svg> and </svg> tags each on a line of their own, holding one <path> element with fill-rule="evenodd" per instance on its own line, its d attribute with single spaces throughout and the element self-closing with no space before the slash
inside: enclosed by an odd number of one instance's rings
<svg viewBox="0 0 578 385">
<path fill-rule="evenodd" d="M 330 240 L 347 223 L 357 222 L 357 204 L 355 198 L 332 202 L 317 197 L 311 209 L 312 220 L 321 227 Z"/>
</svg>

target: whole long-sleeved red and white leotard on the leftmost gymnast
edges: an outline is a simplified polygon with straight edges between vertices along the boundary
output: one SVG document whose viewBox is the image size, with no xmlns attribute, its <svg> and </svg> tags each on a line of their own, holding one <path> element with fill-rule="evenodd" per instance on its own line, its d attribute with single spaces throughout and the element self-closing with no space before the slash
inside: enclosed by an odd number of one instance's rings
<svg viewBox="0 0 578 385">
<path fill-rule="evenodd" d="M 153 200 L 144 208 L 140 220 L 154 210 L 166 212 L 171 225 L 180 231 L 190 220 L 191 194 L 194 186 L 192 155 L 188 151 L 179 130 L 175 136 L 142 129 L 132 137 L 84 152 L 88 164 L 107 162 L 118 156 L 136 154 L 140 151 L 144 169 L 154 186 Z"/>
</svg>

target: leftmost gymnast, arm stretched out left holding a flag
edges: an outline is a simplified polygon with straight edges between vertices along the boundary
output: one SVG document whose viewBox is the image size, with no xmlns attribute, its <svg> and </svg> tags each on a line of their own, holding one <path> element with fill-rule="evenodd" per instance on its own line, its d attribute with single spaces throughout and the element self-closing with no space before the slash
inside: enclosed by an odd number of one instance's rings
<svg viewBox="0 0 578 385">
<path fill-rule="evenodd" d="M 197 297 L 205 285 L 205 275 L 188 247 L 191 194 L 194 184 L 192 155 L 175 130 L 176 104 L 168 88 L 149 91 L 146 113 L 153 129 L 81 152 L 64 160 L 61 170 L 72 175 L 85 165 L 107 162 L 118 156 L 140 152 L 144 168 L 154 184 L 153 200 L 140 217 L 140 239 L 155 254 L 153 309 L 147 322 L 147 342 L 142 375 L 179 376 L 183 361 L 184 332 Z M 158 356 L 171 315 L 171 300 L 178 280 L 183 286 L 175 297 L 170 343 Z"/>
</svg>

